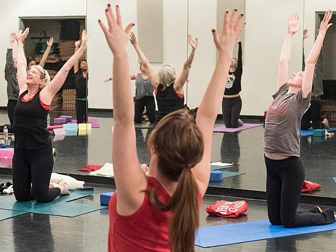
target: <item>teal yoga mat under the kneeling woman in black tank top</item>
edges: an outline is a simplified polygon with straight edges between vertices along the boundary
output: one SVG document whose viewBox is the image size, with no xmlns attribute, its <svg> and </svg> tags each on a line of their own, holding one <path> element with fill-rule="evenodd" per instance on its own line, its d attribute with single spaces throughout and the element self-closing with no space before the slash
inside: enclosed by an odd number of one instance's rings
<svg viewBox="0 0 336 252">
<path fill-rule="evenodd" d="M 17 202 L 14 196 L 0 197 L 0 209 L 64 217 L 75 217 L 106 208 L 106 206 L 70 202 L 91 195 L 92 193 L 93 188 L 70 190 L 70 195 L 60 196 L 55 200 L 47 203 L 37 203 L 36 201 Z"/>
</svg>

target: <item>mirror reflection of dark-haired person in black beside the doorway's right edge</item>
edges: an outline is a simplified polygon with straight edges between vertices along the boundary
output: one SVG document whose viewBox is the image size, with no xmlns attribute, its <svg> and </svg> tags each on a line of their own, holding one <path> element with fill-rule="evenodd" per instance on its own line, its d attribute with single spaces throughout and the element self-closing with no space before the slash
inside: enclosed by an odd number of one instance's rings
<svg viewBox="0 0 336 252">
<path fill-rule="evenodd" d="M 75 52 L 79 49 L 81 41 L 75 42 Z M 89 71 L 86 60 L 81 60 L 73 65 L 76 82 L 76 119 L 77 123 L 87 123 L 87 80 Z"/>
</svg>

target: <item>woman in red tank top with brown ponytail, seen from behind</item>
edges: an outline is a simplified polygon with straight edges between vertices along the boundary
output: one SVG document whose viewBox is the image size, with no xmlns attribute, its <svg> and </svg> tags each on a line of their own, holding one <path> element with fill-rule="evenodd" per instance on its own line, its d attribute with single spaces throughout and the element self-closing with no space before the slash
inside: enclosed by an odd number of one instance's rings
<svg viewBox="0 0 336 252">
<path fill-rule="evenodd" d="M 148 141 L 151 163 L 145 175 L 136 154 L 134 105 L 127 42 L 134 23 L 122 29 L 120 10 L 105 10 L 108 28 L 99 23 L 113 52 L 113 167 L 117 192 L 109 204 L 111 252 L 193 252 L 199 207 L 210 179 L 213 126 L 224 93 L 235 40 L 244 24 L 225 13 L 213 77 L 196 119 L 186 109 L 163 118 Z"/>
</svg>

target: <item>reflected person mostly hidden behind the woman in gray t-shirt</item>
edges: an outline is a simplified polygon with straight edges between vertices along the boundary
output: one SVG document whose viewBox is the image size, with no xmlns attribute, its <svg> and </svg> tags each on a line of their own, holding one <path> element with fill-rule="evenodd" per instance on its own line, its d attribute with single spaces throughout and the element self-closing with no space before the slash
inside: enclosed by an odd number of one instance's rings
<svg viewBox="0 0 336 252">
<path fill-rule="evenodd" d="M 307 35 L 308 31 L 305 29 L 303 31 L 303 42 L 309 36 Z M 304 47 L 303 47 L 304 48 Z M 302 50 L 302 70 L 304 70 L 304 49 Z M 310 101 L 310 107 L 304 113 L 301 120 L 301 129 L 308 130 L 312 127 L 316 129 L 329 129 L 329 122 L 327 118 L 321 120 L 321 110 L 322 110 L 322 101 L 321 95 L 323 95 L 323 45 L 319 53 L 319 58 L 314 69 L 314 78 L 313 78 L 313 89 L 312 89 L 312 98 Z"/>
</svg>

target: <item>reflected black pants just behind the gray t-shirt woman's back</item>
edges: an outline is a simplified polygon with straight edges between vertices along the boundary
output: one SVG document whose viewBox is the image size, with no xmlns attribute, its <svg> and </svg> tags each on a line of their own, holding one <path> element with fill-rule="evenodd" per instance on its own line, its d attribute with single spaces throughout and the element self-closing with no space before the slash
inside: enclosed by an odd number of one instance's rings
<svg viewBox="0 0 336 252">
<path fill-rule="evenodd" d="M 321 121 L 321 109 L 322 101 L 311 100 L 310 107 L 304 113 L 301 119 L 301 129 L 308 130 L 310 127 L 313 127 L 314 130 L 324 129 L 324 124 Z M 310 122 L 312 121 L 312 123 Z"/>
</svg>

